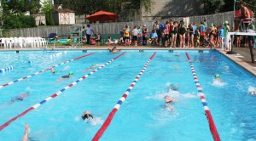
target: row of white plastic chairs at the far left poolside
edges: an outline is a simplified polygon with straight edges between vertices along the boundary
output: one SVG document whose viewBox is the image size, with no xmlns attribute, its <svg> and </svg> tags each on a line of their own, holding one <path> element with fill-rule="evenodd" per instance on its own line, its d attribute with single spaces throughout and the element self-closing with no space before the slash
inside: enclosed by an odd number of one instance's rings
<svg viewBox="0 0 256 141">
<path fill-rule="evenodd" d="M 42 37 L 0 37 L 0 48 L 45 48 L 47 42 Z"/>
</svg>

